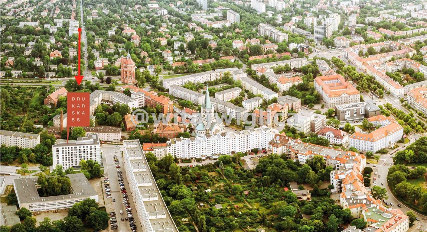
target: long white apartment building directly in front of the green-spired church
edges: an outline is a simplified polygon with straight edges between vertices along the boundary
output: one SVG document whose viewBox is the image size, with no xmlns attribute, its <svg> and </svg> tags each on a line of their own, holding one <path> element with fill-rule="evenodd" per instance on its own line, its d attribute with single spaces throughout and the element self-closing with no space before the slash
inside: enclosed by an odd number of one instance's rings
<svg viewBox="0 0 427 232">
<path fill-rule="evenodd" d="M 246 152 L 254 148 L 268 148 L 269 142 L 276 133 L 278 133 L 277 130 L 263 126 L 262 128 L 233 133 L 170 139 L 167 141 L 167 152 L 179 159 L 206 159 L 219 154 Z"/>
</svg>

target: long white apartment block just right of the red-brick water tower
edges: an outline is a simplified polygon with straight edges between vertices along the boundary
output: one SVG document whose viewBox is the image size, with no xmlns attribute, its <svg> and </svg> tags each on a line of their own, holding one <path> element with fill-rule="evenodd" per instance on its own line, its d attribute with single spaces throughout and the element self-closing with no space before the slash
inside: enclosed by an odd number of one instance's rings
<svg viewBox="0 0 427 232">
<path fill-rule="evenodd" d="M 203 73 L 194 73 L 190 75 L 164 79 L 163 87 L 165 89 L 169 89 L 169 87 L 173 84 L 184 85 L 187 82 L 203 83 L 206 81 L 213 81 L 213 80 L 222 78 L 222 76 L 225 73 L 227 72 L 233 73 L 235 70 L 238 70 L 238 69 L 237 68 L 217 69 L 217 70 L 211 70 Z"/>
</svg>

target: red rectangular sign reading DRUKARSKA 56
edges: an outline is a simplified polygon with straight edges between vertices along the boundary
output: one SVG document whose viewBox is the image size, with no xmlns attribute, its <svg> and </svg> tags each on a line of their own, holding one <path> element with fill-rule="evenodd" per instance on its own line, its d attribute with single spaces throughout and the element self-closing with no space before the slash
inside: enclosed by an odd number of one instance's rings
<svg viewBox="0 0 427 232">
<path fill-rule="evenodd" d="M 88 127 L 90 125 L 89 93 L 67 93 L 67 126 Z"/>
</svg>

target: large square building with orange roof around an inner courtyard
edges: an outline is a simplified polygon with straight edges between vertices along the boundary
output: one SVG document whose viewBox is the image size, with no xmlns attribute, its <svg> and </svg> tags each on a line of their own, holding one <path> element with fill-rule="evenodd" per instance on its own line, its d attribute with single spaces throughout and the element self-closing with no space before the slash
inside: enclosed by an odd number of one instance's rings
<svg viewBox="0 0 427 232">
<path fill-rule="evenodd" d="M 339 74 L 316 77 L 314 87 L 322 96 L 327 108 L 333 108 L 339 104 L 360 102 L 359 90 Z"/>
</svg>

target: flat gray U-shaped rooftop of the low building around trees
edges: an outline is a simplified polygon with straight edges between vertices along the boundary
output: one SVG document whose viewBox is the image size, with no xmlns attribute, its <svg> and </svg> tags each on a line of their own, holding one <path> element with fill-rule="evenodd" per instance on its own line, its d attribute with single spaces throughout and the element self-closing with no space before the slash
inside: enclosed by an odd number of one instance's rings
<svg viewBox="0 0 427 232">
<path fill-rule="evenodd" d="M 53 196 L 53 197 L 40 197 L 35 187 L 38 177 L 33 178 L 19 178 L 13 180 L 16 195 L 20 203 L 39 203 L 42 201 L 55 201 L 62 199 L 82 198 L 98 195 L 95 189 L 91 186 L 88 179 L 83 173 L 65 175 L 70 178 L 72 194 Z"/>
</svg>

